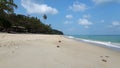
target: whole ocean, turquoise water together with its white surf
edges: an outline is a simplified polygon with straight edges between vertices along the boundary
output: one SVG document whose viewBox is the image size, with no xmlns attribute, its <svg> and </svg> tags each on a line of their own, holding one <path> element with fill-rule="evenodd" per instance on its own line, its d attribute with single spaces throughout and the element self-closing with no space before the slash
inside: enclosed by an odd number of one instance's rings
<svg viewBox="0 0 120 68">
<path fill-rule="evenodd" d="M 120 35 L 69 35 L 67 37 L 120 50 Z"/>
</svg>

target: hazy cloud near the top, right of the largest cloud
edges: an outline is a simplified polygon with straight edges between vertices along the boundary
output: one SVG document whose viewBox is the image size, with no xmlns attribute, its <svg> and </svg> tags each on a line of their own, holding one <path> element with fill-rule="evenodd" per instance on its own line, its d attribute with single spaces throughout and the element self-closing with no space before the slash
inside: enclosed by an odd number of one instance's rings
<svg viewBox="0 0 120 68">
<path fill-rule="evenodd" d="M 73 11 L 85 11 L 88 7 L 84 3 L 74 2 L 72 6 L 69 7 Z"/>
</svg>

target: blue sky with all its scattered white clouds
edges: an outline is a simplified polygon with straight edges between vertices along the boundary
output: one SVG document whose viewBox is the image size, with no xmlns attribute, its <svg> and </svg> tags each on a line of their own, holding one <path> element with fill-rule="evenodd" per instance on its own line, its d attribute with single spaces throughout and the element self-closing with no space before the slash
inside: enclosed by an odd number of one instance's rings
<svg viewBox="0 0 120 68">
<path fill-rule="evenodd" d="M 64 34 L 120 35 L 120 0 L 14 1 L 15 13 L 38 17 Z"/>
</svg>

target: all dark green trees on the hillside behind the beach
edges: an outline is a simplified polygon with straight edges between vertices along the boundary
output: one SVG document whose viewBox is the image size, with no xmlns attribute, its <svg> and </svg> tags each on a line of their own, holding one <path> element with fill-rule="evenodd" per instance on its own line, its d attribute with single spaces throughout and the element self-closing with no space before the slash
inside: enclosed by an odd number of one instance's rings
<svg viewBox="0 0 120 68">
<path fill-rule="evenodd" d="M 46 25 L 37 17 L 30 17 L 15 14 L 14 8 L 17 5 L 13 0 L 0 0 L 0 31 L 10 33 L 42 33 L 42 34 L 63 34 L 63 32 L 52 29 L 51 25 Z M 47 15 L 43 18 L 46 20 Z"/>
</svg>

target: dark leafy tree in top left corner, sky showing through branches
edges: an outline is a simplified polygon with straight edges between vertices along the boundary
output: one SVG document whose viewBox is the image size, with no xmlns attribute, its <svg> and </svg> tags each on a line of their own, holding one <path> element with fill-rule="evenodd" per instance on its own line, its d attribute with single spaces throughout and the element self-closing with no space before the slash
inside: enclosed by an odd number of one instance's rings
<svg viewBox="0 0 120 68">
<path fill-rule="evenodd" d="M 0 0 L 0 22 L 4 29 L 7 30 L 11 27 L 9 21 L 9 14 L 14 13 L 14 8 L 17 8 L 17 5 L 13 2 L 14 0 Z"/>
</svg>

